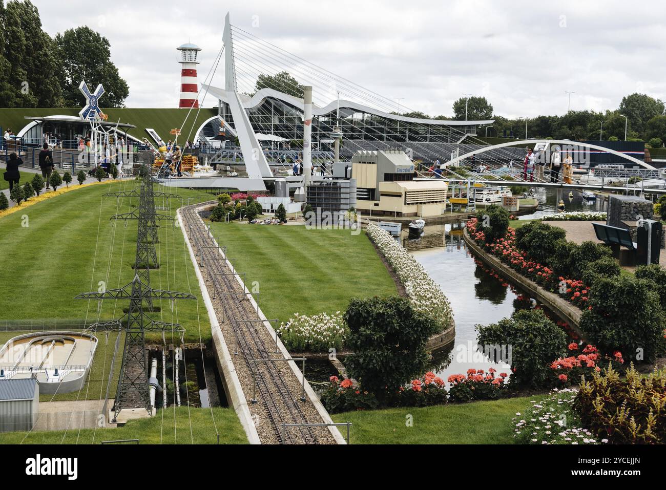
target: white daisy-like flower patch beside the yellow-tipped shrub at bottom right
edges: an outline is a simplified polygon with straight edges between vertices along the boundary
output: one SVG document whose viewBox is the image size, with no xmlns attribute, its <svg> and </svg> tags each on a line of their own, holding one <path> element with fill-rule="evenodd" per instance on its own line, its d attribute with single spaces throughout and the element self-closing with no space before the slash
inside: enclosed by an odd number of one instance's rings
<svg viewBox="0 0 666 490">
<path fill-rule="evenodd" d="M 513 417 L 513 437 L 526 444 L 599 444 L 593 433 L 580 426 L 573 411 L 577 389 L 553 389 L 542 401 L 532 401 L 532 409 Z"/>
</svg>

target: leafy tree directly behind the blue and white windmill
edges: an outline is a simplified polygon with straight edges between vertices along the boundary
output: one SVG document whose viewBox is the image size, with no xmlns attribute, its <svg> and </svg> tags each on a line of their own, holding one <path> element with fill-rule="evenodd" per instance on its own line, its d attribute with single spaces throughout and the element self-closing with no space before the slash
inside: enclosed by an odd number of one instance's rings
<svg viewBox="0 0 666 490">
<path fill-rule="evenodd" d="M 111 61 L 111 45 L 106 37 L 84 25 L 58 34 L 55 43 L 62 60 L 59 78 L 67 107 L 79 107 L 85 102 L 79 91 L 81 79 L 91 91 L 99 83 L 104 85 L 102 100 L 106 107 L 123 107 L 129 87 Z"/>
</svg>

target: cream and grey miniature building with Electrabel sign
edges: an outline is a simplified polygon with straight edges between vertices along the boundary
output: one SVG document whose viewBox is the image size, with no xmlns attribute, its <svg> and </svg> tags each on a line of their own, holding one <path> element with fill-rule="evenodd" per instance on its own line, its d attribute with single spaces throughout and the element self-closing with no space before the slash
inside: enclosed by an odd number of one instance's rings
<svg viewBox="0 0 666 490">
<path fill-rule="evenodd" d="M 394 216 L 439 216 L 447 184 L 415 181 L 414 164 L 400 150 L 359 151 L 352 158 L 358 211 Z"/>
</svg>

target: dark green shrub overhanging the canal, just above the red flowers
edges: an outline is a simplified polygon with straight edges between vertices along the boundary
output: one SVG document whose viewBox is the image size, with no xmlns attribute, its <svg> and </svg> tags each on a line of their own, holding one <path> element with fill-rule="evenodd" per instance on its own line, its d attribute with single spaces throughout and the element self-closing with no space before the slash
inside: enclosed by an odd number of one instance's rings
<svg viewBox="0 0 666 490">
<path fill-rule="evenodd" d="M 530 387 L 547 384 L 550 364 L 565 352 L 567 337 L 543 310 L 520 310 L 511 318 L 496 324 L 476 326 L 479 344 L 484 352 L 503 351 L 500 346 L 511 347 L 509 359 L 491 356 L 494 362 L 510 362 L 511 383 Z"/>
</svg>

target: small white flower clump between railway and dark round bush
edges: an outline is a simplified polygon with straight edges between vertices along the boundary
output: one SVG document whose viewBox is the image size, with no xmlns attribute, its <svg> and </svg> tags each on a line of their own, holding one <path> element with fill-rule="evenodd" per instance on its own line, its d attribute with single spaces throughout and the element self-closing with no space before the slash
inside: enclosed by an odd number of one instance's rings
<svg viewBox="0 0 666 490">
<path fill-rule="evenodd" d="M 296 313 L 278 328 L 278 335 L 288 349 L 314 352 L 328 352 L 330 348 L 341 350 L 348 333 L 340 312 L 312 316 Z"/>
</svg>

